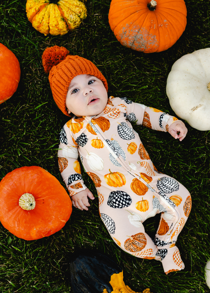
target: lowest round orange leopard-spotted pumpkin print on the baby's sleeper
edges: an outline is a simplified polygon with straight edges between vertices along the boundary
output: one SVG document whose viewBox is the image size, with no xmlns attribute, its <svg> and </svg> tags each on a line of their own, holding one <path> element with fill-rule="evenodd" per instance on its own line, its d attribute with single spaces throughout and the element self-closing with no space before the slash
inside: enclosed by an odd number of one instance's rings
<svg viewBox="0 0 210 293">
<path fill-rule="evenodd" d="M 138 233 L 129 237 L 125 243 L 124 247 L 127 251 L 138 252 L 144 249 L 146 246 L 146 237 L 144 233 Z"/>
</svg>

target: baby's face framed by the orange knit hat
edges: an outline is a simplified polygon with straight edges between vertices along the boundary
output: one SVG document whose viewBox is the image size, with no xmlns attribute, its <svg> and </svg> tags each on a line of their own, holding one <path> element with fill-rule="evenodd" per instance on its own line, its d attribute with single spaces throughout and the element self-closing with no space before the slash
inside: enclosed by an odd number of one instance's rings
<svg viewBox="0 0 210 293">
<path fill-rule="evenodd" d="M 98 115 L 106 107 L 107 90 L 94 76 L 78 75 L 69 85 L 66 96 L 68 113 L 77 117 Z"/>
</svg>

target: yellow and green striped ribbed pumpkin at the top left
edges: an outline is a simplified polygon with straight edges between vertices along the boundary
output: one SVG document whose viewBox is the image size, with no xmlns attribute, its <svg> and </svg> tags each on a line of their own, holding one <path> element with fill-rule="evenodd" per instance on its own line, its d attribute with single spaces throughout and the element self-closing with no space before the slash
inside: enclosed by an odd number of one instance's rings
<svg viewBox="0 0 210 293">
<path fill-rule="evenodd" d="M 79 27 L 87 9 L 80 0 L 27 0 L 26 14 L 37 31 L 56 36 Z"/>
</svg>

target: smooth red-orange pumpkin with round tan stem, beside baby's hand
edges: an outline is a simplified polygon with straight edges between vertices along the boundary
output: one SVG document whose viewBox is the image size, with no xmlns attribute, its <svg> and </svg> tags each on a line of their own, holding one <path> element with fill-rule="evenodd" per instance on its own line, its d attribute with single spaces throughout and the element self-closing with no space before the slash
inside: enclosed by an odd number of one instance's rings
<svg viewBox="0 0 210 293">
<path fill-rule="evenodd" d="M 65 188 L 40 167 L 15 169 L 0 182 L 0 221 L 19 238 L 35 240 L 54 234 L 71 212 Z"/>
</svg>

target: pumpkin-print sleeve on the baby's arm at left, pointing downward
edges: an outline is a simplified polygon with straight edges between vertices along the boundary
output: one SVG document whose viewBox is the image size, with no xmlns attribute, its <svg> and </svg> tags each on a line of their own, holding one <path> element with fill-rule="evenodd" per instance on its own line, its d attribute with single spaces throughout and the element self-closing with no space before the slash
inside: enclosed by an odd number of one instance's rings
<svg viewBox="0 0 210 293">
<path fill-rule="evenodd" d="M 65 124 L 60 132 L 60 144 L 58 150 L 58 164 L 61 176 L 66 184 L 70 196 L 85 190 L 78 161 L 79 152 L 76 142 Z"/>
</svg>

